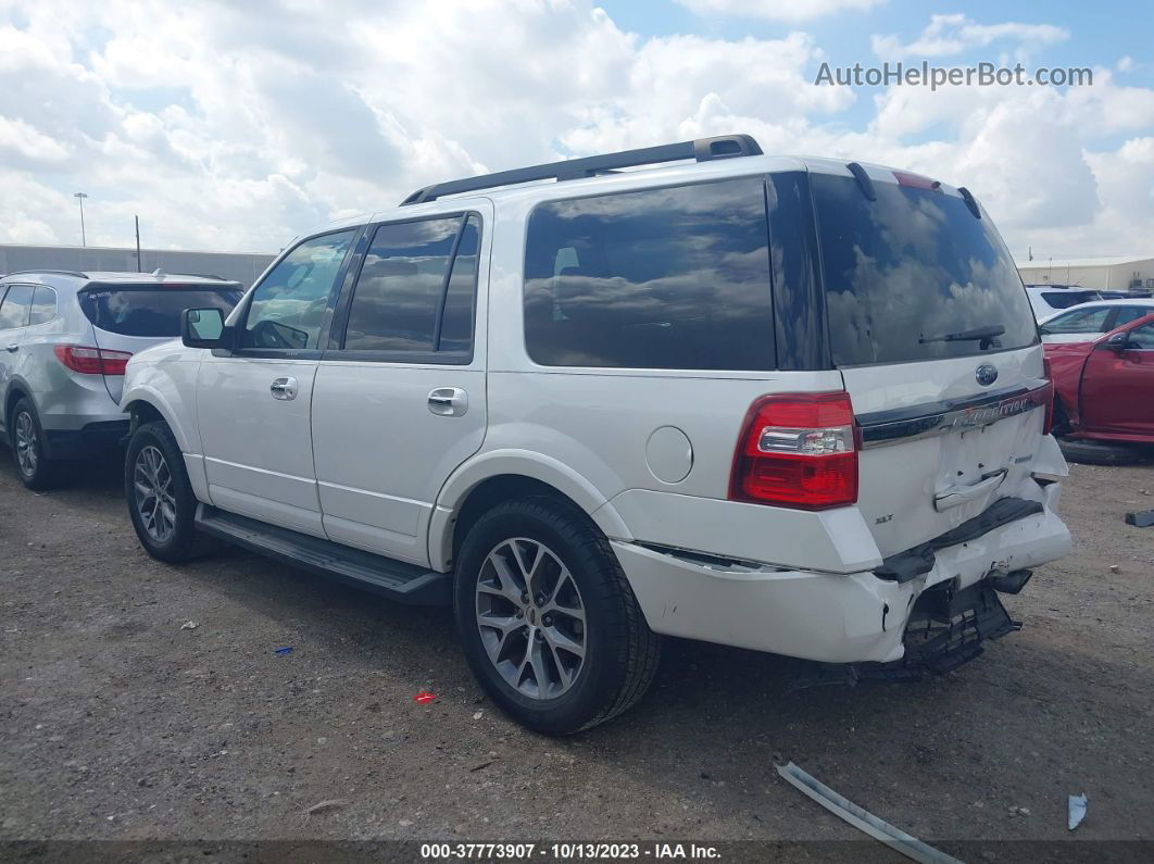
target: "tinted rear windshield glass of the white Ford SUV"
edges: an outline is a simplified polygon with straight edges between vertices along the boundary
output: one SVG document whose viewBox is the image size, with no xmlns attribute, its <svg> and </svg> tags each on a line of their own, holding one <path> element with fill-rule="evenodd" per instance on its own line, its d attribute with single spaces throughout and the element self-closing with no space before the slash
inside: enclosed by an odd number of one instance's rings
<svg viewBox="0 0 1154 864">
<path fill-rule="evenodd" d="M 814 174 L 812 189 L 838 366 L 1035 341 L 1021 278 L 989 217 L 975 218 L 960 197 L 896 183 L 875 183 L 876 201 L 853 178 Z M 997 328 L 991 338 L 958 338 Z"/>
</svg>

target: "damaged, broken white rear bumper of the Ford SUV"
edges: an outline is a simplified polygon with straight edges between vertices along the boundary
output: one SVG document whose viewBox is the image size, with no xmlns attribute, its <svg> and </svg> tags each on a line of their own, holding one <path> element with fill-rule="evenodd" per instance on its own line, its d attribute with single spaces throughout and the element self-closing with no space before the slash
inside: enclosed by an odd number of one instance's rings
<svg viewBox="0 0 1154 864">
<path fill-rule="evenodd" d="M 1014 629 L 991 579 L 1009 589 L 1020 578 L 1011 574 L 1066 554 L 1070 533 L 1055 512 L 1059 489 L 1047 486 L 1041 506 L 1016 513 L 1011 521 L 998 519 L 984 533 L 934 544 L 931 554 L 919 555 L 920 572 L 904 580 L 884 570 L 820 573 L 709 561 L 712 556 L 624 541 L 612 546 L 650 628 L 669 636 L 820 663 L 887 664 L 914 653 L 908 634 L 923 614 L 943 618 L 953 610 L 951 625 L 937 621 L 927 628 L 934 632 L 922 639 L 926 645 L 909 664 L 924 670 L 943 643 L 950 659 L 942 663 L 957 664 L 966 654 L 976 656 L 975 644 Z M 976 589 L 967 591 L 972 587 Z M 943 628 L 951 633 L 943 637 Z"/>
</svg>

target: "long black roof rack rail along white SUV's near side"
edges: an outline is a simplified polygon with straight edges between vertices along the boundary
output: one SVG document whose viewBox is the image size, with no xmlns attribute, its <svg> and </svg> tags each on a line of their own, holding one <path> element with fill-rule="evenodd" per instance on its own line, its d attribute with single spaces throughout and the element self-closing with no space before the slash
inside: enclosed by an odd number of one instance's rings
<svg viewBox="0 0 1154 864">
<path fill-rule="evenodd" d="M 737 156 L 760 156 L 762 148 L 750 135 L 719 135 L 713 138 L 682 141 L 677 144 L 645 146 L 639 150 L 622 150 L 619 153 L 589 156 L 583 159 L 564 159 L 545 165 L 533 165 L 527 168 L 499 171 L 495 174 L 481 174 L 462 180 L 449 180 L 418 189 L 400 202 L 406 204 L 424 204 L 444 195 L 457 195 L 478 189 L 492 189 L 495 186 L 512 186 L 533 180 L 576 180 L 578 178 L 605 174 L 617 168 L 631 168 L 638 165 L 657 165 L 664 161 L 696 159 L 713 161 L 714 159 L 732 159 Z"/>
</svg>

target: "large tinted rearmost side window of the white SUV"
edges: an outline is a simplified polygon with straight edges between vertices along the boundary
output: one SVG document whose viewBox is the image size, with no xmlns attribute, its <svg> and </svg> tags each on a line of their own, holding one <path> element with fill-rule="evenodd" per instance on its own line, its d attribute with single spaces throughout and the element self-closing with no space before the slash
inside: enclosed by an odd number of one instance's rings
<svg viewBox="0 0 1154 864">
<path fill-rule="evenodd" d="M 525 345 L 546 366 L 772 369 L 763 182 L 542 204 L 524 300 Z"/>
</svg>

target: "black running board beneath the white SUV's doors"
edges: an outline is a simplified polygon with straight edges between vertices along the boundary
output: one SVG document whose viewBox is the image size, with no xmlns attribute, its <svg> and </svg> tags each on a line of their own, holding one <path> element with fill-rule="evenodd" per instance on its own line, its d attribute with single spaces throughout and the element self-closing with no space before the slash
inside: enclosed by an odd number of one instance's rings
<svg viewBox="0 0 1154 864">
<path fill-rule="evenodd" d="M 200 504 L 196 527 L 228 543 L 285 564 L 368 588 L 412 606 L 445 606 L 452 598 L 452 576 L 322 540 L 291 528 Z"/>
</svg>

